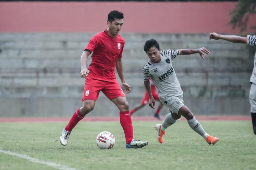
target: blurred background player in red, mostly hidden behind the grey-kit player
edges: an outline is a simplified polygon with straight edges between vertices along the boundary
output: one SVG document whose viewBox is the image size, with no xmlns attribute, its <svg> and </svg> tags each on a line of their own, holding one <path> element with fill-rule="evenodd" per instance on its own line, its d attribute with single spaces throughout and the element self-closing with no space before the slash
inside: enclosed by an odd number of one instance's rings
<svg viewBox="0 0 256 170">
<path fill-rule="evenodd" d="M 154 85 L 154 83 L 151 79 L 150 79 L 150 85 L 151 85 L 151 93 L 152 93 L 154 99 L 159 101 L 159 97 L 158 97 L 157 91 L 155 89 L 155 85 Z M 131 109 L 130 114 L 132 115 L 134 112 L 136 112 L 137 110 L 139 110 L 142 107 L 144 107 L 145 105 L 147 105 L 148 101 L 149 101 L 149 96 L 147 94 L 147 90 L 145 90 L 145 95 L 141 99 L 140 105 L 136 106 L 134 109 Z M 160 104 L 158 105 L 158 108 L 156 109 L 155 114 L 154 114 L 154 117 L 156 117 L 159 120 L 161 120 L 161 118 L 159 116 L 159 113 L 160 113 L 162 108 L 163 108 L 163 104 L 160 102 Z"/>
</svg>

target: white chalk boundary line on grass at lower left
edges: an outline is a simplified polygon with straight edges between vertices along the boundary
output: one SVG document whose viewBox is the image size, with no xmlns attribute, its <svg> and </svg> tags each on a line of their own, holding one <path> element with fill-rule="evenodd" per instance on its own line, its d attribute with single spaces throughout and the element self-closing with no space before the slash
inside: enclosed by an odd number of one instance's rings
<svg viewBox="0 0 256 170">
<path fill-rule="evenodd" d="M 5 150 L 2 150 L 2 148 L 0 148 L 0 153 L 5 153 L 7 155 L 17 156 L 19 158 L 26 159 L 26 160 L 28 160 L 30 162 L 48 165 L 48 166 L 51 166 L 51 167 L 56 168 L 56 169 L 61 169 L 61 170 L 77 170 L 75 168 L 70 168 L 70 167 L 67 167 L 67 166 L 60 165 L 60 164 L 55 164 L 53 162 L 43 161 L 43 160 L 39 160 L 39 159 L 36 159 L 36 158 L 32 158 L 32 157 L 27 156 L 27 155 L 22 155 L 22 154 L 10 152 L 10 151 L 5 151 Z"/>
</svg>

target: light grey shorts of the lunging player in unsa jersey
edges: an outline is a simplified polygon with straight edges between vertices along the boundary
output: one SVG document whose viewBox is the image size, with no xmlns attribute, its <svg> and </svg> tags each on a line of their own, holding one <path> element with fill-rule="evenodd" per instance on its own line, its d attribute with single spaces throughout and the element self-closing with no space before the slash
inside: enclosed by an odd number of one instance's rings
<svg viewBox="0 0 256 170">
<path fill-rule="evenodd" d="M 160 98 L 161 103 L 165 105 L 172 113 L 179 112 L 180 108 L 184 106 L 183 104 L 183 96 L 179 97 L 166 97 L 166 98 Z"/>
</svg>

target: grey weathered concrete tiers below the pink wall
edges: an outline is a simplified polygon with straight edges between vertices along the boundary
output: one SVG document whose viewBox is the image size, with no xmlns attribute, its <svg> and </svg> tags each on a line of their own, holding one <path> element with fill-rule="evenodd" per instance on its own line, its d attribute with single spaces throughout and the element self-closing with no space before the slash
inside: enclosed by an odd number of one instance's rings
<svg viewBox="0 0 256 170">
<path fill-rule="evenodd" d="M 92 33 L 0 33 L 0 117 L 70 116 L 81 107 L 84 78 L 80 56 Z M 208 40 L 207 34 L 122 34 L 126 40 L 123 69 L 132 92 L 130 108 L 144 95 L 142 68 L 149 60 L 146 40 L 161 49 L 207 48 L 211 54 L 179 56 L 173 66 L 184 91 L 184 102 L 195 114 L 250 114 L 250 74 L 254 48 Z M 90 60 L 89 60 L 90 62 Z M 89 63 L 88 62 L 88 63 Z M 118 78 L 119 81 L 119 78 Z M 166 114 L 164 108 L 161 114 Z M 137 115 L 150 115 L 148 106 Z M 92 116 L 118 115 L 102 93 Z"/>
</svg>

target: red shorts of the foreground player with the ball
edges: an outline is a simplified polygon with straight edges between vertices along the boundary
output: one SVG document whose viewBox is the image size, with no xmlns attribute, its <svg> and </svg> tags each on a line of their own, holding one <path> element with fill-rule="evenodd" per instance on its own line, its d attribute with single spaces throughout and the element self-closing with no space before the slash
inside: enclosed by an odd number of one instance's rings
<svg viewBox="0 0 256 170">
<path fill-rule="evenodd" d="M 116 97 L 122 96 L 126 97 L 121 86 L 118 82 L 108 82 L 108 81 L 101 81 L 96 80 L 93 78 L 86 78 L 85 79 L 85 88 L 84 88 L 84 95 L 82 101 L 84 100 L 94 100 L 96 101 L 99 97 L 99 93 L 105 94 L 109 100 L 112 100 Z"/>
</svg>

